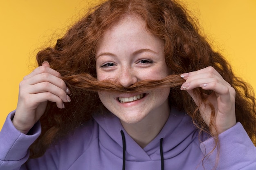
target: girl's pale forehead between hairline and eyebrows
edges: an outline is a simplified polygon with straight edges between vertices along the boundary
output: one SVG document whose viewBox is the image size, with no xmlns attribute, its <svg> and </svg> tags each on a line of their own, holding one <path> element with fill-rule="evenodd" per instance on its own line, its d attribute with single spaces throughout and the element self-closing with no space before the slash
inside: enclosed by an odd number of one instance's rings
<svg viewBox="0 0 256 170">
<path fill-rule="evenodd" d="M 116 22 L 103 34 L 97 48 L 100 52 L 114 52 L 120 49 L 135 51 L 138 49 L 162 50 L 163 42 L 146 30 L 145 22 L 140 17 L 126 16 Z"/>
</svg>

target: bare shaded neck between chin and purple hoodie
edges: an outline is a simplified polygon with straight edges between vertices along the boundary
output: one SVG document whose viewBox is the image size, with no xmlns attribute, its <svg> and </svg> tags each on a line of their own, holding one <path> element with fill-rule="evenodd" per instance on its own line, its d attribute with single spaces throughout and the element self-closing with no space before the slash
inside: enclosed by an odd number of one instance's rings
<svg viewBox="0 0 256 170">
<path fill-rule="evenodd" d="M 133 140 L 144 148 L 147 146 L 162 130 L 170 115 L 170 108 L 166 108 L 162 113 L 148 114 L 143 120 L 135 124 L 127 124 L 121 121 L 126 132 Z"/>
</svg>

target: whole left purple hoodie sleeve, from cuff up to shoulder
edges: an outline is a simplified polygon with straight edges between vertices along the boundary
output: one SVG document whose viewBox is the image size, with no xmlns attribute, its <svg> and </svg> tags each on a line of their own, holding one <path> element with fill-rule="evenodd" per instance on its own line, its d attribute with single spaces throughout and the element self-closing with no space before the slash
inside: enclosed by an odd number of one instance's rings
<svg viewBox="0 0 256 170">
<path fill-rule="evenodd" d="M 65 140 L 50 146 L 42 157 L 29 159 L 29 146 L 40 135 L 41 125 L 36 123 L 29 135 L 25 135 L 13 126 L 11 120 L 14 114 L 12 112 L 7 116 L 0 131 L 0 170 L 68 169 L 98 139 L 98 124 L 91 120 Z"/>
</svg>

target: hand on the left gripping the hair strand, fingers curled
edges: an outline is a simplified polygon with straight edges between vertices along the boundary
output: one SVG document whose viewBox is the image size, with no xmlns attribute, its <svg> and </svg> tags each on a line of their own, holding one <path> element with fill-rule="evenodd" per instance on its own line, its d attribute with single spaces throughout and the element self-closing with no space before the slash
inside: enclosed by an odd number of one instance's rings
<svg viewBox="0 0 256 170">
<path fill-rule="evenodd" d="M 48 62 L 25 76 L 19 85 L 19 96 L 13 125 L 27 134 L 45 112 L 47 101 L 56 102 L 64 108 L 63 102 L 70 102 L 70 90 L 61 79 L 61 74 L 50 68 Z"/>
</svg>

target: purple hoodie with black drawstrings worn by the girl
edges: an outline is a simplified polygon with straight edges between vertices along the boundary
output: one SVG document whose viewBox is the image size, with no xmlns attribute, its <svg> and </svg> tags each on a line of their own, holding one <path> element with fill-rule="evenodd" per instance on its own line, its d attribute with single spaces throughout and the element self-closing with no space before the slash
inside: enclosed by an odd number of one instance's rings
<svg viewBox="0 0 256 170">
<path fill-rule="evenodd" d="M 213 138 L 200 142 L 191 118 L 174 108 L 161 132 L 145 148 L 111 114 L 94 117 L 51 146 L 43 157 L 28 161 L 28 148 L 40 135 L 40 124 L 31 129 L 31 135 L 25 135 L 13 126 L 13 115 L 8 115 L 0 132 L 0 170 L 211 170 L 216 165 L 216 150 L 202 165 L 213 149 Z M 217 170 L 256 170 L 256 147 L 240 123 L 221 133 L 219 139 Z"/>
</svg>

